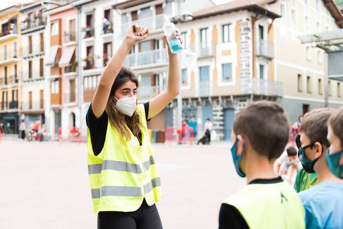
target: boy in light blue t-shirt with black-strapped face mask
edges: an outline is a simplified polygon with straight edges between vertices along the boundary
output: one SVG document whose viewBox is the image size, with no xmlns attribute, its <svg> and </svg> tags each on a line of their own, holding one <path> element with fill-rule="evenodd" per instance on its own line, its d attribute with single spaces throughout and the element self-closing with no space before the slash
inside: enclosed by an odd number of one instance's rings
<svg viewBox="0 0 343 229">
<path fill-rule="evenodd" d="M 298 156 L 304 170 L 317 173 L 318 184 L 299 193 L 305 208 L 306 228 L 343 228 L 343 179 L 335 177 L 325 154 L 330 146 L 327 123 L 332 108 L 315 109 L 305 114 L 300 127 Z"/>
</svg>

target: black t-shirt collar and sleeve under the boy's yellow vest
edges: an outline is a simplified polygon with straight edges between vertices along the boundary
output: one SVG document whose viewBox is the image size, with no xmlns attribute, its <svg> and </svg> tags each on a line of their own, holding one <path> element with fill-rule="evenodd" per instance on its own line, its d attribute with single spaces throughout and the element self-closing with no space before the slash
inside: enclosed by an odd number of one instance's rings
<svg viewBox="0 0 343 229">
<path fill-rule="evenodd" d="M 271 184 L 282 182 L 282 178 L 254 179 L 249 184 Z M 219 213 L 219 229 L 249 229 L 241 212 L 230 204 L 221 204 Z"/>
</svg>

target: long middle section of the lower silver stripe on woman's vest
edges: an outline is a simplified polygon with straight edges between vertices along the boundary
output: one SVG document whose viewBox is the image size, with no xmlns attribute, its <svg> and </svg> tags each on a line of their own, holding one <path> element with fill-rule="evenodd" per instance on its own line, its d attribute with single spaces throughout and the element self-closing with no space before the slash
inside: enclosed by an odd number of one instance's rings
<svg viewBox="0 0 343 229">
<path fill-rule="evenodd" d="M 124 196 L 124 197 L 141 197 L 142 190 L 140 187 L 126 186 L 103 186 L 100 187 L 101 196 Z"/>
</svg>

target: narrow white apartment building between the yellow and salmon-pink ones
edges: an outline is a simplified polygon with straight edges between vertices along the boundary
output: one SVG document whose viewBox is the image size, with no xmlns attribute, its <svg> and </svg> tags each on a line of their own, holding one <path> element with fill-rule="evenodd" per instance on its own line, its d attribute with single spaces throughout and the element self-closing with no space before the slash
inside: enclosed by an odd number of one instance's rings
<svg viewBox="0 0 343 229">
<path fill-rule="evenodd" d="M 22 16 L 22 96 L 21 114 L 29 127 L 33 122 L 45 123 L 45 11 L 62 1 L 34 1 L 20 9 Z"/>
</svg>

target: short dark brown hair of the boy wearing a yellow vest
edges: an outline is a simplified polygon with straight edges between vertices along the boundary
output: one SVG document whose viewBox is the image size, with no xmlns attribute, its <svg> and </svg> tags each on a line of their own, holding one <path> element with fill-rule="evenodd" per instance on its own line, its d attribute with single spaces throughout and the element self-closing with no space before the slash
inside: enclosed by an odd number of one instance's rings
<svg viewBox="0 0 343 229">
<path fill-rule="evenodd" d="M 233 130 L 236 135 L 245 135 L 257 153 L 271 160 L 285 150 L 289 122 L 282 106 L 276 102 L 258 101 L 236 115 Z"/>
</svg>

